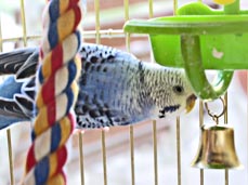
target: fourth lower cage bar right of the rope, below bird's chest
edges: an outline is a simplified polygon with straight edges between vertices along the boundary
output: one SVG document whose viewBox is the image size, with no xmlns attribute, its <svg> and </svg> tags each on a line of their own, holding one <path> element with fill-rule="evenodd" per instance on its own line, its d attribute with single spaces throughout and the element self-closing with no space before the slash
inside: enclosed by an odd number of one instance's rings
<svg viewBox="0 0 248 185">
<path fill-rule="evenodd" d="M 153 120 L 153 141 L 154 141 L 154 185 L 158 185 L 158 162 L 157 162 L 157 122 Z"/>
</svg>

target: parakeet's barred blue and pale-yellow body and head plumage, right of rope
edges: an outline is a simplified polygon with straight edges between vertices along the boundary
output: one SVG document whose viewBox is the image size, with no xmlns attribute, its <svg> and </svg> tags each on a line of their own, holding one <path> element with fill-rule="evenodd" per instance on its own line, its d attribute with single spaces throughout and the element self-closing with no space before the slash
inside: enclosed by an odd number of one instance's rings
<svg viewBox="0 0 248 185">
<path fill-rule="evenodd" d="M 78 128 L 125 125 L 183 108 L 173 87 L 192 93 L 183 70 L 143 63 L 129 53 L 88 44 L 76 103 Z M 182 106 L 182 107 L 181 107 Z"/>
</svg>

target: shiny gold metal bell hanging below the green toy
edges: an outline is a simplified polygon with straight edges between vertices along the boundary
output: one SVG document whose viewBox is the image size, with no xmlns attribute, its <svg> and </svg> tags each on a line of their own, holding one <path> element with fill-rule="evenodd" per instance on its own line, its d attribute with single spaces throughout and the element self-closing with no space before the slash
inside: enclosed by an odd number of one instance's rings
<svg viewBox="0 0 248 185">
<path fill-rule="evenodd" d="M 198 153 L 192 167 L 200 169 L 242 168 L 235 150 L 234 130 L 226 124 L 203 125 Z"/>
</svg>

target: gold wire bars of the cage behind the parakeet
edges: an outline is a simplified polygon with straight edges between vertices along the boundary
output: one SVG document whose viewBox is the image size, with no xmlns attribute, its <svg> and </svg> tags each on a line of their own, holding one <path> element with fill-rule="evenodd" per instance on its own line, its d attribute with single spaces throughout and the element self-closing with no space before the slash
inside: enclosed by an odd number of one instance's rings
<svg viewBox="0 0 248 185">
<path fill-rule="evenodd" d="M 1 0 L 2 1 L 2 0 Z M 3 0 L 4 1 L 4 0 Z M 161 0 L 160 0 L 161 1 Z M 159 2 L 160 2 L 159 1 Z M 108 1 L 108 3 L 112 2 L 112 1 Z M 123 12 L 123 23 L 126 21 L 128 21 L 130 18 L 130 3 L 133 3 L 134 1 L 133 0 L 123 0 L 122 1 L 122 12 Z M 156 12 L 156 9 L 155 9 L 155 5 L 157 3 L 156 0 L 140 0 L 139 2 L 142 2 L 142 3 L 147 3 L 147 14 L 146 14 L 146 17 L 147 18 L 151 18 L 151 17 L 154 17 L 154 13 Z M 16 36 L 16 37 L 9 37 L 9 38 L 3 38 L 2 36 L 2 27 L 5 26 L 5 25 L 2 25 L 2 22 L 0 24 L 0 51 L 4 51 L 3 50 L 3 44 L 4 43 L 9 43 L 9 42 L 13 42 L 13 43 L 17 43 L 17 42 L 21 42 L 23 43 L 23 47 L 28 47 L 28 42 L 29 41 L 37 41 L 40 39 L 40 36 L 39 35 L 28 35 L 27 32 L 27 26 L 26 26 L 26 11 L 25 10 L 25 3 L 28 3 L 28 0 L 19 0 L 19 2 L 15 1 L 15 3 L 19 3 L 19 12 L 21 12 L 21 24 L 22 24 L 22 36 Z M 125 39 L 125 42 L 126 42 L 126 50 L 128 52 L 132 52 L 131 51 L 131 47 L 130 47 L 130 40 L 132 38 L 135 38 L 135 37 L 145 37 L 146 36 L 135 36 L 135 35 L 126 35 L 121 27 L 118 27 L 118 28 L 106 28 L 106 29 L 101 29 L 101 4 L 103 4 L 104 2 L 103 1 L 100 1 L 100 0 L 92 0 L 92 1 L 89 1 L 88 2 L 88 5 L 89 3 L 93 4 L 93 10 L 94 10 L 94 22 L 95 22 L 95 27 L 94 27 L 94 30 L 83 30 L 82 32 L 82 37 L 87 40 L 87 39 L 91 39 L 91 41 L 94 41 L 95 43 L 101 43 L 102 39 L 115 39 L 115 38 L 122 38 Z M 1 3 L 0 3 L 1 4 Z M 171 10 L 171 13 L 175 12 L 177 8 L 178 8 L 178 1 L 174 0 L 173 2 L 170 1 L 170 2 L 166 2 L 166 4 L 168 5 L 169 4 L 169 8 L 165 8 L 165 9 L 169 9 Z M 165 4 L 165 5 L 166 5 Z M 158 5 L 157 5 L 158 6 Z M 157 8 L 156 6 L 156 8 Z M 86 19 L 87 19 L 87 16 L 86 16 Z M 2 21 L 2 19 L 0 19 Z M 147 39 L 147 38 L 146 38 Z M 151 54 L 151 58 L 152 58 L 152 54 Z M 225 101 L 227 102 L 227 94 L 225 95 Z M 203 106 L 203 102 L 199 102 L 199 114 L 198 114 L 198 121 L 199 121 L 199 125 L 204 124 L 204 106 Z M 174 140 L 175 140 L 175 144 L 177 144 L 177 162 L 175 162 L 175 166 L 177 166 L 177 171 L 175 171 L 175 179 L 174 179 L 174 183 L 173 184 L 178 184 L 178 185 L 181 185 L 181 184 L 186 184 L 182 177 L 182 173 L 184 173 L 184 171 L 182 171 L 182 161 L 181 161 L 181 156 L 183 155 L 183 151 L 181 150 L 181 123 L 180 123 L 180 118 L 178 117 L 177 120 L 175 120 L 175 133 L 174 133 Z M 227 123 L 227 113 L 225 114 L 224 116 L 224 122 Z M 153 175 L 152 175 L 152 184 L 154 185 L 158 185 L 159 184 L 159 177 L 161 177 L 161 175 L 159 175 L 159 161 L 158 161 L 158 147 L 157 147 L 157 133 L 158 133 L 158 130 L 160 129 L 160 127 L 158 128 L 157 125 L 157 122 L 156 121 L 149 121 L 149 124 L 151 127 L 151 134 L 152 136 L 149 137 L 149 142 L 152 143 L 153 145 L 153 157 L 152 159 L 147 159 L 147 160 L 152 160 L 153 161 Z M 19 128 L 17 128 L 19 129 Z M 130 179 L 130 184 L 131 185 L 134 185 L 134 184 L 141 184 L 136 181 L 136 174 L 139 173 L 139 171 L 135 170 L 135 161 L 136 161 L 136 157 L 135 157 L 135 140 L 134 138 L 134 134 L 135 132 L 139 130 L 140 128 L 135 128 L 135 125 L 130 125 L 128 128 L 128 130 L 126 129 L 125 132 L 128 133 L 129 135 L 129 158 L 130 158 L 130 163 L 127 164 L 127 168 L 130 168 L 130 175 L 129 179 Z M 1 132 L 4 132 L 4 131 L 1 131 Z M 91 131 L 89 131 L 91 132 Z M 13 162 L 13 146 L 12 146 L 12 129 L 8 129 L 5 131 L 6 133 L 6 141 L 8 141 L 8 148 L 9 148 L 9 169 L 10 169 L 10 173 L 9 173 L 9 182 L 11 185 L 14 185 L 14 184 L 17 184 L 18 183 L 18 180 L 16 180 L 16 176 L 15 176 L 15 164 Z M 99 141 L 101 141 L 101 148 L 102 148 L 102 153 L 101 153 L 101 158 L 102 158 L 102 177 L 103 181 L 102 181 L 102 184 L 104 185 L 107 185 L 107 184 L 112 184 L 109 182 L 109 176 L 112 175 L 110 172 L 108 171 L 108 161 L 110 160 L 108 158 L 108 154 L 107 154 L 107 149 L 108 149 L 108 144 L 106 142 L 106 135 L 108 135 L 108 132 L 106 133 L 105 131 L 100 131 L 97 132 L 96 135 L 101 135 L 100 137 L 97 137 Z M 78 167 L 78 171 L 79 171 L 79 174 L 80 174 L 80 184 L 81 185 L 84 185 L 87 184 L 86 182 L 86 173 L 84 173 L 84 170 L 86 170 L 86 163 L 84 163 L 84 160 L 86 160 L 86 156 L 84 156 L 84 153 L 87 150 L 87 148 L 84 148 L 84 141 L 87 141 L 87 136 L 89 135 L 84 135 L 82 133 L 79 133 L 76 138 L 77 138 L 77 143 L 78 143 L 78 146 L 79 146 L 79 150 L 78 150 L 78 163 L 79 163 L 79 167 Z M 3 138 L 5 140 L 5 138 Z M 139 140 L 139 138 L 138 138 Z M 3 142 L 3 141 L 0 141 L 0 142 Z M 247 141 L 246 141 L 247 143 Z M 26 147 L 27 149 L 27 147 Z M 1 150 L 0 153 L 5 153 L 5 150 Z M 193 157 L 193 156 L 192 156 Z M 0 159 L 1 160 L 1 159 Z M 188 164 L 190 166 L 190 164 Z M 8 169 L 6 167 L 0 167 L 0 168 L 4 168 L 4 169 Z M 152 168 L 152 167 L 148 167 L 148 168 Z M 188 167 L 190 168 L 190 167 Z M 196 175 L 198 175 L 199 177 L 199 181 L 198 181 L 198 184 L 200 185 L 204 185 L 205 184 L 205 171 L 204 170 L 199 170 L 199 172 L 197 173 L 198 170 L 195 171 Z M 120 172 L 121 173 L 121 172 Z M 223 179 L 223 183 L 225 185 L 230 184 L 230 177 L 229 177 L 229 171 L 227 170 L 224 170 L 224 175 Z M 146 174 L 143 174 L 143 175 L 146 175 Z M 97 177 L 97 176 L 96 176 Z M 69 176 L 68 176 L 69 179 Z M 1 181 L 1 179 L 0 179 Z M 244 177 L 244 182 L 247 182 L 247 176 Z M 0 182 L 0 184 L 2 184 Z M 91 183 L 89 183 L 91 184 Z M 142 183 L 144 184 L 144 183 Z M 166 183 L 166 184 L 170 184 L 170 183 Z M 145 185 L 145 184 L 144 184 Z"/>
</svg>

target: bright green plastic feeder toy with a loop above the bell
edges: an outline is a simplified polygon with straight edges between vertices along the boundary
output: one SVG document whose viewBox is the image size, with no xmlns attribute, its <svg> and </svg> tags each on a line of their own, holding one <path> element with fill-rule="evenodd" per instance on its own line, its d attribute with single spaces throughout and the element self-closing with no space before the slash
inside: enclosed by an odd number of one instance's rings
<svg viewBox="0 0 248 185">
<path fill-rule="evenodd" d="M 227 90 L 233 71 L 248 69 L 248 11 L 239 10 L 238 0 L 224 5 L 224 10 L 193 2 L 180 8 L 175 16 L 129 21 L 125 31 L 148 34 L 155 61 L 183 67 L 203 100 L 220 97 Z M 218 70 L 212 84 L 206 69 Z"/>
</svg>

